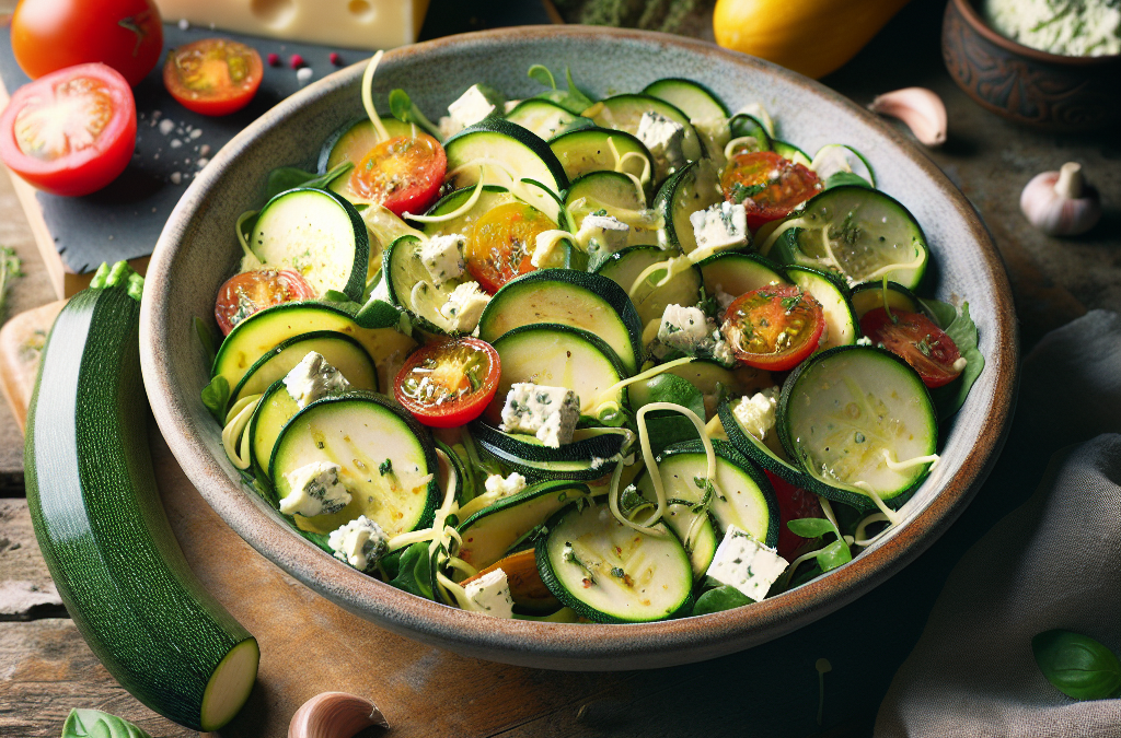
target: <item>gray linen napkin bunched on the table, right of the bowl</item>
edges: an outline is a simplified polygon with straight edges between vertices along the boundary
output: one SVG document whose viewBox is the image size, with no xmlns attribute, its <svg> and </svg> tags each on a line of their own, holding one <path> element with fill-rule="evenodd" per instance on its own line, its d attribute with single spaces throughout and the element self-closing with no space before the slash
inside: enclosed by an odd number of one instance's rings
<svg viewBox="0 0 1121 738">
<path fill-rule="evenodd" d="M 1121 654 L 1121 317 L 1092 311 L 1036 346 L 1017 422 L 1032 441 L 1006 454 L 1081 445 L 958 561 L 880 706 L 878 738 L 1121 736 L 1121 700 L 1063 695 L 1031 654 L 1051 628 Z M 1002 483 L 1023 480 L 986 486 Z"/>
</svg>

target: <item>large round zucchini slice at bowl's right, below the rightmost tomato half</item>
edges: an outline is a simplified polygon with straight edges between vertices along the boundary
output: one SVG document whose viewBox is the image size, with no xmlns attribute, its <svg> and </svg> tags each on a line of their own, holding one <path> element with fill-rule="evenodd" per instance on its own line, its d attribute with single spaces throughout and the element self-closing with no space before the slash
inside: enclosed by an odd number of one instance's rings
<svg viewBox="0 0 1121 738">
<path fill-rule="evenodd" d="M 876 507 L 873 493 L 898 510 L 938 446 L 923 380 L 895 354 L 865 346 L 800 364 L 782 387 L 778 430 L 789 457 L 831 491 L 826 496 L 863 510 Z"/>
</svg>

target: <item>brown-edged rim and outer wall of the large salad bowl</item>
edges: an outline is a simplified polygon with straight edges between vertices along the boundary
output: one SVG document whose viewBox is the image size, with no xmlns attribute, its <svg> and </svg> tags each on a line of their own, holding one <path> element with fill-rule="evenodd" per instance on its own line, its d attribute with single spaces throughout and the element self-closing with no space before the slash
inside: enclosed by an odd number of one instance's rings
<svg viewBox="0 0 1121 738">
<path fill-rule="evenodd" d="M 555 38 L 627 39 L 658 47 L 677 47 L 704 57 L 747 66 L 788 84 L 807 88 L 817 96 L 850 109 L 893 144 L 935 184 L 957 215 L 973 232 L 993 286 L 997 335 L 989 357 L 998 371 L 992 404 L 972 448 L 957 474 L 898 534 L 865 551 L 847 564 L 798 587 L 779 598 L 766 599 L 750 608 L 633 625 L 580 625 L 506 620 L 479 617 L 441 606 L 398 590 L 358 570 L 325 557 L 311 542 L 296 535 L 268 535 L 276 521 L 265 503 L 245 494 L 211 457 L 201 437 L 191 431 L 191 398 L 174 385 L 167 354 L 159 340 L 167 330 L 160 311 L 170 289 L 169 264 L 173 249 L 188 223 L 188 216 L 205 206 L 205 188 L 219 174 L 203 170 L 176 205 L 156 245 L 148 269 L 141 312 L 141 356 L 145 384 L 157 423 L 183 471 L 200 494 L 242 539 L 289 574 L 341 607 L 371 619 L 391 632 L 489 661 L 565 670 L 613 671 L 656 667 L 712 658 L 771 641 L 790 633 L 855 600 L 897 573 L 925 551 L 957 519 L 997 461 L 1008 435 L 1015 405 L 1019 337 L 1016 329 L 1011 287 L 991 234 L 969 200 L 914 142 L 878 116 L 824 85 L 736 52 L 697 39 L 668 34 L 586 26 L 522 26 L 450 36 L 386 53 L 383 65 L 407 62 L 432 50 L 458 45 L 500 44 L 506 39 Z M 360 63 L 308 85 L 281 101 L 234 137 L 212 158 L 221 166 L 235 158 L 257 137 L 305 102 L 352 84 L 361 75 Z M 193 399 L 197 404 L 197 398 Z M 234 494 L 229 494 L 231 491 Z M 265 525 L 262 525 L 262 523 Z M 324 576 L 324 571 L 327 576 Z M 372 597 L 371 597 L 372 592 Z M 374 606 L 371 608 L 370 602 Z"/>
</svg>

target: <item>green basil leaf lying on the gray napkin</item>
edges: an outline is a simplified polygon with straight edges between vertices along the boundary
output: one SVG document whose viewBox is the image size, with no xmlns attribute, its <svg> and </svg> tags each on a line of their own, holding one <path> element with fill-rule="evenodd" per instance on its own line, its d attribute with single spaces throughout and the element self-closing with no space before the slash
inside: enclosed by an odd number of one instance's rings
<svg viewBox="0 0 1121 738">
<path fill-rule="evenodd" d="M 1121 692 L 1121 661 L 1097 641 L 1071 630 L 1047 630 L 1031 639 L 1039 671 L 1076 700 L 1104 700 Z"/>
</svg>

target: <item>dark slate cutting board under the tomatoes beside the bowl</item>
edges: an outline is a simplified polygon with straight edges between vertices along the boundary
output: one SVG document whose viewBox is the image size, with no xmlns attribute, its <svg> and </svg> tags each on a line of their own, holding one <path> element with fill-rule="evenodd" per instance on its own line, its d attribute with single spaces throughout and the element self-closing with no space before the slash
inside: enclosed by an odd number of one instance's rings
<svg viewBox="0 0 1121 738">
<path fill-rule="evenodd" d="M 555 11 L 550 16 L 539 0 L 478 3 L 433 0 L 420 39 L 499 26 L 548 24 L 555 17 Z M 0 82 L 3 87 L 0 88 L 0 106 L 7 103 L 4 90 L 13 91 L 29 81 L 12 56 L 7 27 L 4 19 L 0 31 Z M 253 46 L 266 66 L 261 87 L 247 108 L 231 115 L 207 118 L 176 103 L 164 88 L 161 75 L 166 49 L 215 36 Z M 137 150 L 115 181 L 85 197 L 55 197 L 12 178 L 58 297 L 73 295 L 85 287 L 103 261 L 130 260 L 142 271 L 164 223 L 201 165 L 205 166 L 226 141 L 265 111 L 336 71 L 339 67 L 330 62 L 332 52 L 339 54 L 343 65 L 370 55 L 369 52 L 278 41 L 205 27 L 183 29 L 175 22 L 164 25 L 164 48 L 159 64 L 133 90 Z M 269 54 L 280 57 L 280 66 L 268 66 Z M 299 80 L 289 64 L 295 54 L 303 57 L 312 72 L 307 80 Z"/>
</svg>

